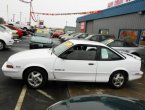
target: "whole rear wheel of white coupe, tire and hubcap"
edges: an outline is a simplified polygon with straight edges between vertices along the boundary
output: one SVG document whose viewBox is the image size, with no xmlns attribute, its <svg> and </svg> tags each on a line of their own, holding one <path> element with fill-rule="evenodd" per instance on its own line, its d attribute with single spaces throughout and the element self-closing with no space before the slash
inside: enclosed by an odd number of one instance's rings
<svg viewBox="0 0 145 110">
<path fill-rule="evenodd" d="M 110 76 L 109 84 L 114 89 L 124 87 L 127 82 L 127 75 L 122 71 L 117 71 Z"/>
</svg>

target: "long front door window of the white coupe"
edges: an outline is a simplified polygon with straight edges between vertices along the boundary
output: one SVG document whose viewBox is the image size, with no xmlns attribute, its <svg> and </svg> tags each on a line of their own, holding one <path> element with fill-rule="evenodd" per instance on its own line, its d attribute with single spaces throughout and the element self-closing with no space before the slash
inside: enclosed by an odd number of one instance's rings
<svg viewBox="0 0 145 110">
<path fill-rule="evenodd" d="M 98 47 L 77 45 L 60 55 L 66 60 L 96 60 Z"/>
</svg>

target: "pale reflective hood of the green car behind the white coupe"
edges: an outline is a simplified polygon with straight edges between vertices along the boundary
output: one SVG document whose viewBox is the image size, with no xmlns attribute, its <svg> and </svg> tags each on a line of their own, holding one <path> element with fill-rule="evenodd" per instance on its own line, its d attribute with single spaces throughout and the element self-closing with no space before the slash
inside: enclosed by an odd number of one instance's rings
<svg viewBox="0 0 145 110">
<path fill-rule="evenodd" d="M 52 43 L 52 40 L 50 38 L 45 38 L 45 37 L 39 37 L 39 36 L 33 36 L 31 37 L 31 42 L 35 43 L 44 43 L 44 44 L 50 44 Z"/>
</svg>

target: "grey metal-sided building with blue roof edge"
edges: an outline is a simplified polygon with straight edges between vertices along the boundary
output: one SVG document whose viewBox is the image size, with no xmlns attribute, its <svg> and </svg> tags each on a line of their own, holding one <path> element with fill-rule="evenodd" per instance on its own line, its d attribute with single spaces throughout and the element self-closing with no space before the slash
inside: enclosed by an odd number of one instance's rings
<svg viewBox="0 0 145 110">
<path fill-rule="evenodd" d="M 77 32 L 114 34 L 116 38 L 145 45 L 145 0 L 102 10 L 77 18 Z"/>
</svg>

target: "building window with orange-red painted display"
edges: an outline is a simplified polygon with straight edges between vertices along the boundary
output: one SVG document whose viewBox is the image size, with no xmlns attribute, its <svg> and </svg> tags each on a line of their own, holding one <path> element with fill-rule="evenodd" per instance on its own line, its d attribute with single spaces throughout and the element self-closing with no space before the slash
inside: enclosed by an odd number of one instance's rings
<svg viewBox="0 0 145 110">
<path fill-rule="evenodd" d="M 138 33 L 138 30 L 121 30 L 119 33 L 119 38 L 130 42 L 136 42 Z"/>
</svg>

